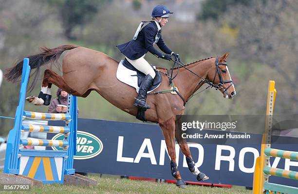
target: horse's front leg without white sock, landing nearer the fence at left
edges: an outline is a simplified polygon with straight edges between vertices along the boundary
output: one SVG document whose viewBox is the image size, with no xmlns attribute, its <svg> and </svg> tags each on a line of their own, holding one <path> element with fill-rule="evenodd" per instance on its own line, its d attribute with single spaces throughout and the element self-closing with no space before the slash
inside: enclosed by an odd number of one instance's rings
<svg viewBox="0 0 298 194">
<path fill-rule="evenodd" d="M 163 130 L 165 141 L 168 148 L 168 155 L 171 158 L 171 174 L 177 180 L 176 185 L 180 188 L 186 188 L 185 181 L 181 178 L 178 166 L 176 163 L 176 151 L 175 151 L 175 118 L 171 117 L 169 120 L 159 122 L 161 129 Z"/>
</svg>

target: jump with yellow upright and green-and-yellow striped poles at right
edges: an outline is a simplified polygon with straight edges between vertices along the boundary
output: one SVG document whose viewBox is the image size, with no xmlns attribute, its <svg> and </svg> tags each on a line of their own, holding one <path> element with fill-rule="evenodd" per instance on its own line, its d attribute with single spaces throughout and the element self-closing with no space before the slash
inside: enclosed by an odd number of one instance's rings
<svg viewBox="0 0 298 194">
<path fill-rule="evenodd" d="M 276 98 L 275 82 L 269 81 L 266 125 L 262 136 L 261 154 L 256 160 L 253 194 L 298 194 L 298 188 L 269 182 L 269 177 L 278 176 L 298 180 L 298 172 L 270 167 L 270 157 L 298 160 L 298 152 L 271 148 L 272 119 Z M 298 184 L 298 183 L 297 183 Z"/>
</svg>

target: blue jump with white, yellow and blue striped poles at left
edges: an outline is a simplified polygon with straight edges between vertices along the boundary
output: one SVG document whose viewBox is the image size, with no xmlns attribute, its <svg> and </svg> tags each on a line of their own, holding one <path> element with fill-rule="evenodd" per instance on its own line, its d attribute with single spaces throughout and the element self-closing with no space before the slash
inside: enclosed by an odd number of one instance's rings
<svg viewBox="0 0 298 194">
<path fill-rule="evenodd" d="M 69 95 L 67 113 L 37 113 L 24 111 L 25 95 L 30 75 L 29 59 L 23 60 L 23 71 L 16 110 L 14 128 L 9 131 L 4 174 L 0 174 L 1 184 L 47 183 L 74 184 L 81 186 L 96 185 L 96 181 L 75 174 L 73 166 L 76 154 L 77 99 Z M 63 120 L 64 127 L 45 125 L 23 125 L 23 120 Z M 64 140 L 22 139 L 21 133 L 46 132 L 62 133 Z M 63 150 L 23 149 L 24 146 L 59 146 Z"/>
</svg>

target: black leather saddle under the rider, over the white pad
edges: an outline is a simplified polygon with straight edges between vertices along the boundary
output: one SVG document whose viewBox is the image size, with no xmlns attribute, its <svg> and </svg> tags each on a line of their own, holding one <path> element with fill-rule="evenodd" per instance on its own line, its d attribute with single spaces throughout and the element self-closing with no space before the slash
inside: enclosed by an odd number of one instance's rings
<svg viewBox="0 0 298 194">
<path fill-rule="evenodd" d="M 129 62 L 127 59 L 124 59 L 124 61 L 123 61 L 123 66 L 125 66 L 126 68 L 128 68 L 128 69 L 130 69 L 130 70 L 136 72 L 136 75 L 131 75 L 131 76 L 137 76 L 137 78 L 138 78 L 138 87 L 140 87 L 140 85 L 141 85 L 141 83 L 142 83 L 142 81 L 144 80 L 144 78 L 145 78 L 146 75 L 145 75 L 143 72 L 137 70 L 134 66 L 132 66 L 132 65 L 130 64 L 130 62 Z M 154 77 L 154 79 L 153 79 L 153 81 L 152 81 L 152 83 L 151 83 L 151 87 L 149 88 L 148 91 L 152 91 L 152 90 L 154 90 L 156 87 L 159 86 L 159 84 L 160 84 L 161 81 L 162 81 L 162 76 L 160 75 L 160 72 L 157 71 L 157 70 L 153 67 L 153 65 L 151 65 L 151 67 L 152 67 L 153 70 L 155 71 L 155 74 L 156 74 L 156 75 L 155 75 L 155 77 Z"/>
</svg>

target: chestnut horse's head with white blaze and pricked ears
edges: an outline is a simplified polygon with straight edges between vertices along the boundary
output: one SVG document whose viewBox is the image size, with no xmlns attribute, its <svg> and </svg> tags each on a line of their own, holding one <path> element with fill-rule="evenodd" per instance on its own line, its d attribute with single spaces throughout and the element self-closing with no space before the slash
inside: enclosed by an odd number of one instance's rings
<svg viewBox="0 0 298 194">
<path fill-rule="evenodd" d="M 208 78 L 223 93 L 223 97 L 231 99 L 236 95 L 236 90 L 226 64 L 228 56 L 229 53 L 225 53 L 221 57 L 216 57 L 215 64 L 208 72 Z"/>
</svg>

